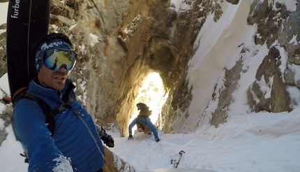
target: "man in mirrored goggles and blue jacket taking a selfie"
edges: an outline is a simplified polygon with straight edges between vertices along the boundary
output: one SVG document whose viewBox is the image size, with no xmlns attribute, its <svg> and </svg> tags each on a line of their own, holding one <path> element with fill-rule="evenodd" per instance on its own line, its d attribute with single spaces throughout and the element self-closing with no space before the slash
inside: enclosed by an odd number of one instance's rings
<svg viewBox="0 0 300 172">
<path fill-rule="evenodd" d="M 87 110 L 76 100 L 75 86 L 68 79 L 77 54 L 63 34 L 48 34 L 37 43 L 37 77 L 29 83 L 28 93 L 42 99 L 50 110 L 69 103 L 54 116 L 51 134 L 42 108 L 31 99 L 15 104 L 13 129 L 29 158 L 28 171 L 103 171 L 104 141 L 114 147 L 114 139 L 94 124 Z M 73 96 L 72 96 L 73 95 Z"/>
</svg>

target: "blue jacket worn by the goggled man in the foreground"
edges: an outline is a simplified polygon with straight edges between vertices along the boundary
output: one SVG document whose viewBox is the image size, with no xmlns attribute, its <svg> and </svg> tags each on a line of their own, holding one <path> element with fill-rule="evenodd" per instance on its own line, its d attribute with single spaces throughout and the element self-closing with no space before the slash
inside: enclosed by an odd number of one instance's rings
<svg viewBox="0 0 300 172">
<path fill-rule="evenodd" d="M 68 85 L 73 85 L 70 79 L 63 90 L 57 91 L 33 80 L 29 94 L 43 99 L 54 110 L 63 104 L 61 97 Z M 15 105 L 13 129 L 29 157 L 28 171 L 97 171 L 103 167 L 104 148 L 91 116 L 78 101 L 71 106 L 73 110 L 67 108 L 54 117 L 54 133 L 50 136 L 38 103 L 21 99 Z"/>
</svg>

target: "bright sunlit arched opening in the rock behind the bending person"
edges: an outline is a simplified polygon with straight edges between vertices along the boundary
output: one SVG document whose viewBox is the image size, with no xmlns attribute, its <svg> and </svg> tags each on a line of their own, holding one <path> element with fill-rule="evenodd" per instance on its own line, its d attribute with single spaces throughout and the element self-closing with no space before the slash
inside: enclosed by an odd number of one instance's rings
<svg viewBox="0 0 300 172">
<path fill-rule="evenodd" d="M 149 110 L 152 110 L 150 115 L 151 122 L 157 126 L 158 116 L 161 115 L 163 104 L 167 100 L 167 89 L 163 85 L 163 80 L 160 78 L 159 73 L 149 73 L 144 80 L 142 87 L 139 88 L 134 103 L 145 103 L 149 106 Z M 133 116 L 130 118 L 130 122 L 139 115 L 140 111 L 136 106 L 133 110 Z M 133 127 L 133 131 L 137 128 Z"/>
</svg>

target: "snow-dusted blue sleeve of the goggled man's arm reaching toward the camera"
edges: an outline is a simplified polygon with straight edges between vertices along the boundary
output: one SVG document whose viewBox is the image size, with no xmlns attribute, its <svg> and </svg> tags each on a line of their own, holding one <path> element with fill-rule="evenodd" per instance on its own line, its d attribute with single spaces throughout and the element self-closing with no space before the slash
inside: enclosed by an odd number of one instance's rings
<svg viewBox="0 0 300 172">
<path fill-rule="evenodd" d="M 29 157 L 28 171 L 73 171 L 70 162 L 54 145 L 43 110 L 37 103 L 20 100 L 12 122 L 15 136 Z"/>
</svg>

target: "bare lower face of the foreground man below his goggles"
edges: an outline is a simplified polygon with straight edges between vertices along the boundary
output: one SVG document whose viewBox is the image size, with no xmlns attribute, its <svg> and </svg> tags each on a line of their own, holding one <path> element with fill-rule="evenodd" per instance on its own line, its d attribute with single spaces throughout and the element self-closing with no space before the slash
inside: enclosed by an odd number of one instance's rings
<svg viewBox="0 0 300 172">
<path fill-rule="evenodd" d="M 61 68 L 58 71 L 53 71 L 48 69 L 44 64 L 38 72 L 38 80 L 41 84 L 46 84 L 52 89 L 57 89 L 61 91 L 66 84 L 66 79 L 68 76 L 68 71 L 66 68 Z"/>
</svg>

